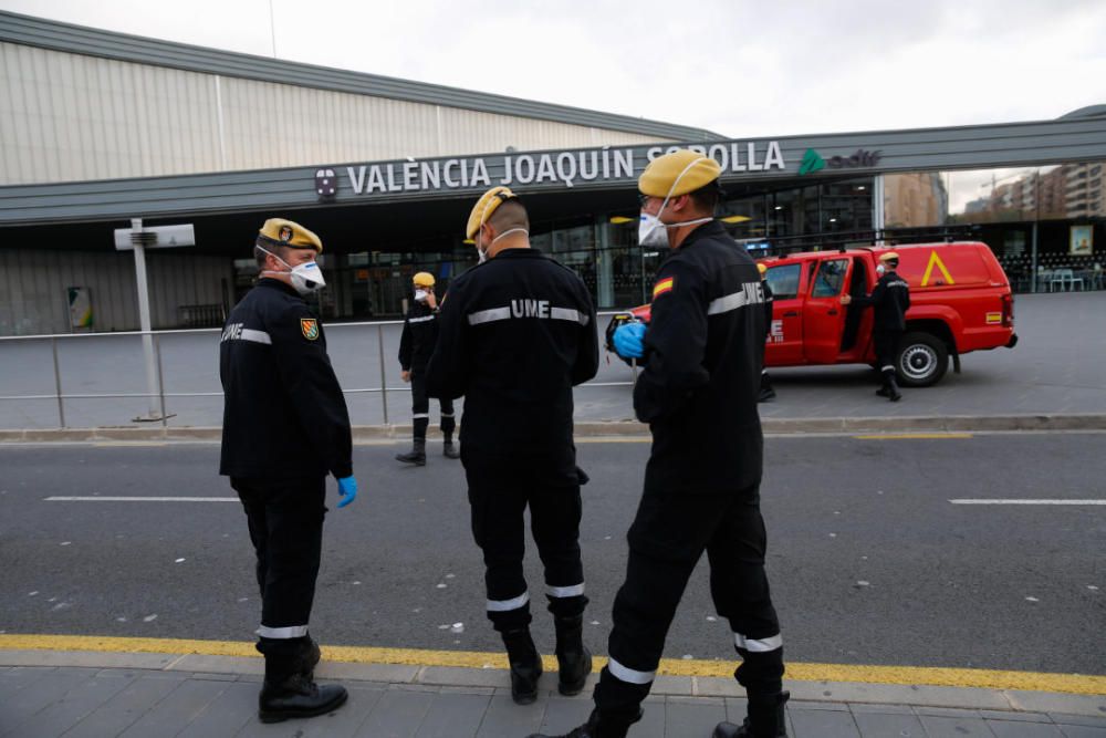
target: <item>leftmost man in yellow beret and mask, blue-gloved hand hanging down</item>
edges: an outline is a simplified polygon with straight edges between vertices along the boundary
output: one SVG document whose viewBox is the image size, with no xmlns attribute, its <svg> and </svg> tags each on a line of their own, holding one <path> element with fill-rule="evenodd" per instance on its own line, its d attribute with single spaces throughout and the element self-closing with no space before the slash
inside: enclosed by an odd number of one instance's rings
<svg viewBox="0 0 1106 738">
<path fill-rule="evenodd" d="M 326 513 L 326 476 L 345 507 L 357 496 L 349 415 L 326 355 L 326 337 L 304 297 L 325 284 L 313 232 L 267 220 L 254 242 L 261 279 L 222 330 L 222 458 L 246 510 L 261 589 L 259 697 L 264 723 L 328 713 L 346 700 L 316 685 L 319 645 L 307 632 Z"/>
</svg>

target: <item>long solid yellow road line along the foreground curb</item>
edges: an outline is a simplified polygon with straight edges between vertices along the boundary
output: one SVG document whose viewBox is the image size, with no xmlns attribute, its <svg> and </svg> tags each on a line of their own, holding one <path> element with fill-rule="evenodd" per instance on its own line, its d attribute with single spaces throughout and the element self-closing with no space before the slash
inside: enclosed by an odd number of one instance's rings
<svg viewBox="0 0 1106 738">
<path fill-rule="evenodd" d="M 0 634 L 0 649 L 196 654 L 260 658 L 260 655 L 253 647 L 253 643 L 248 642 L 124 638 L 95 635 Z M 471 651 L 323 646 L 323 656 L 327 661 L 351 664 L 508 668 L 507 656 L 502 653 Z M 556 671 L 555 657 L 543 656 L 542 661 L 546 669 Z M 595 671 L 598 672 L 605 664 L 606 658 L 596 657 Z M 657 673 L 662 676 L 732 678 L 733 662 L 665 658 L 661 659 Z M 1041 672 L 930 666 L 857 666 L 851 664 L 789 663 L 786 678 L 795 682 L 859 682 L 866 684 L 929 685 L 939 687 L 972 687 L 977 689 L 1023 689 L 1075 695 L 1106 695 L 1106 676 L 1087 674 L 1048 674 Z"/>
</svg>

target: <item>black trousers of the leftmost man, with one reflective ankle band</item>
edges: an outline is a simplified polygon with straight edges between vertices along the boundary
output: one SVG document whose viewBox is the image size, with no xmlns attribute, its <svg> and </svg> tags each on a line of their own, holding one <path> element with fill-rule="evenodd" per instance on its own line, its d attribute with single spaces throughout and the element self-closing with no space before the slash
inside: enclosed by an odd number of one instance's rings
<svg viewBox="0 0 1106 738">
<path fill-rule="evenodd" d="M 323 544 L 326 477 L 232 477 L 258 555 L 262 640 L 306 635 Z"/>
</svg>

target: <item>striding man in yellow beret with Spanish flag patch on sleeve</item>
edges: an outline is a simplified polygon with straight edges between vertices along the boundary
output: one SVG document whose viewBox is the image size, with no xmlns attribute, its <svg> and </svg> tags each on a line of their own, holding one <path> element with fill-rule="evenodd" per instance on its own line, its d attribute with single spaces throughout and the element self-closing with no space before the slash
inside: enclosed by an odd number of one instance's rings
<svg viewBox="0 0 1106 738">
<path fill-rule="evenodd" d="M 620 326 L 614 341 L 620 355 L 644 364 L 634 409 L 649 424 L 653 451 L 627 536 L 609 661 L 595 709 L 571 738 L 623 738 L 640 719 L 703 551 L 714 606 L 742 657 L 734 676 L 749 697 L 744 724 L 720 724 L 713 735 L 784 735 L 789 694 L 760 512 L 764 292 L 755 262 L 713 218 L 719 174 L 712 158 L 684 149 L 654 159 L 638 179 L 639 241 L 671 251 L 657 272 L 650 324 Z"/>
</svg>

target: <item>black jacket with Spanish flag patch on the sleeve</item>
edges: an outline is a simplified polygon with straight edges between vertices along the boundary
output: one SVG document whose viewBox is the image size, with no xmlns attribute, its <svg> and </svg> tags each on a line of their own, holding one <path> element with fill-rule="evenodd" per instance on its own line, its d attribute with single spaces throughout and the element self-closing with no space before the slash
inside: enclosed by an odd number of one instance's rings
<svg viewBox="0 0 1106 738">
<path fill-rule="evenodd" d="M 647 492 L 760 484 L 764 322 L 757 264 L 718 221 L 695 229 L 660 266 L 634 388 L 637 417 L 653 430 Z"/>
</svg>

